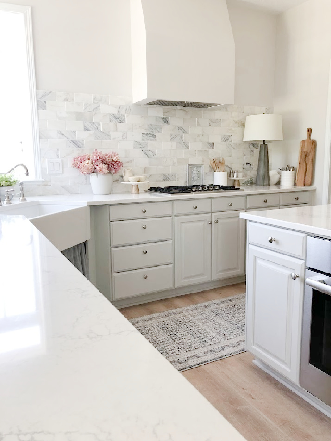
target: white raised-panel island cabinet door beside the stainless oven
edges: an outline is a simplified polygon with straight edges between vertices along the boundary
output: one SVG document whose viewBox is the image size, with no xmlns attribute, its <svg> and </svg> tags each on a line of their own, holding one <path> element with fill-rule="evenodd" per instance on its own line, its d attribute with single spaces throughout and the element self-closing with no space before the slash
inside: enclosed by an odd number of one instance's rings
<svg viewBox="0 0 331 441">
<path fill-rule="evenodd" d="M 297 384 L 304 276 L 304 261 L 249 245 L 246 349 Z"/>
</svg>

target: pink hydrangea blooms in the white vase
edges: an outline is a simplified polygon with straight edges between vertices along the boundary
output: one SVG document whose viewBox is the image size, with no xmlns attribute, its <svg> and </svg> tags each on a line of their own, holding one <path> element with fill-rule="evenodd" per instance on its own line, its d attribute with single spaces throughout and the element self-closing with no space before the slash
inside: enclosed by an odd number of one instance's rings
<svg viewBox="0 0 331 441">
<path fill-rule="evenodd" d="M 76 156 L 71 165 L 78 168 L 83 175 L 90 175 L 91 173 L 116 174 L 123 167 L 123 163 L 116 152 L 102 153 L 98 150 L 94 150 L 90 154 Z"/>
</svg>

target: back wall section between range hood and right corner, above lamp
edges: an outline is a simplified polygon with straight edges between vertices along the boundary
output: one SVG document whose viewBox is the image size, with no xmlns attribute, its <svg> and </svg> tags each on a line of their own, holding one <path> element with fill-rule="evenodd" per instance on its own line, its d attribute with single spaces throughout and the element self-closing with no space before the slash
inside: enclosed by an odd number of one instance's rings
<svg viewBox="0 0 331 441">
<path fill-rule="evenodd" d="M 236 45 L 234 102 L 273 106 L 276 15 L 227 0 Z"/>
</svg>

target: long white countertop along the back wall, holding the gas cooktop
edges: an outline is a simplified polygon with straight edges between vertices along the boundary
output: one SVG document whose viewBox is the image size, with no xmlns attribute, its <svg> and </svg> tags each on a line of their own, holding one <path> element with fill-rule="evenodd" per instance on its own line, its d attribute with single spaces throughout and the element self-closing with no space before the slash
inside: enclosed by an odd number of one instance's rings
<svg viewBox="0 0 331 441">
<path fill-rule="evenodd" d="M 121 204 L 130 202 L 158 202 L 171 201 L 181 199 L 197 199 L 197 198 L 222 198 L 229 196 L 247 196 L 249 194 L 265 194 L 265 193 L 286 193 L 289 191 L 311 191 L 316 190 L 316 187 L 281 187 L 280 185 L 273 185 L 271 187 L 256 187 L 255 185 L 241 187 L 240 190 L 224 191 L 224 192 L 206 192 L 196 194 L 161 194 L 141 192 L 139 194 L 131 193 L 114 193 L 107 195 L 97 194 L 63 194 L 51 196 L 35 196 L 27 197 L 29 201 L 56 201 L 56 202 L 80 202 L 87 205 L 103 205 L 103 204 Z"/>
</svg>

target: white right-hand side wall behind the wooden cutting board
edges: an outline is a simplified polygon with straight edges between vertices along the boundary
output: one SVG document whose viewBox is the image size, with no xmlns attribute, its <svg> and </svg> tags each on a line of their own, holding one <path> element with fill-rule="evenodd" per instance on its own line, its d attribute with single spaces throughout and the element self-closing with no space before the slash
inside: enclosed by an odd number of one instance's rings
<svg viewBox="0 0 331 441">
<path fill-rule="evenodd" d="M 330 23 L 330 0 L 309 0 L 278 15 L 277 20 L 274 112 L 282 114 L 284 141 L 274 144 L 273 168 L 297 165 L 300 141 L 306 138 L 307 127 L 312 127 L 312 138 L 317 141 L 317 203 L 323 187 Z"/>
</svg>

